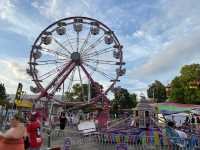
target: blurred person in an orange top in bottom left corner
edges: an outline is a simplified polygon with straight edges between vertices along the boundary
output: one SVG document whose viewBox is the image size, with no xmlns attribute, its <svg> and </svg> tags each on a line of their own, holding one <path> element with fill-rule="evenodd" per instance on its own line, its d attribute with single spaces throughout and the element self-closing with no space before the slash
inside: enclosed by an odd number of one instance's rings
<svg viewBox="0 0 200 150">
<path fill-rule="evenodd" d="M 24 150 L 25 127 L 23 119 L 16 114 L 10 120 L 11 128 L 0 132 L 0 150 Z"/>
</svg>

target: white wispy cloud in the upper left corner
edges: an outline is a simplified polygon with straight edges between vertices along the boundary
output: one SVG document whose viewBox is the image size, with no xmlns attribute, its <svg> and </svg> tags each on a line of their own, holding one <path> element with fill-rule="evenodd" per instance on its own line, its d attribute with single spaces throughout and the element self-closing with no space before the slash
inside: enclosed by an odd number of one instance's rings
<svg viewBox="0 0 200 150">
<path fill-rule="evenodd" d="M 9 30 L 32 40 L 40 32 L 42 25 L 22 13 L 19 4 L 14 2 L 11 0 L 0 1 L 1 30 Z"/>
</svg>

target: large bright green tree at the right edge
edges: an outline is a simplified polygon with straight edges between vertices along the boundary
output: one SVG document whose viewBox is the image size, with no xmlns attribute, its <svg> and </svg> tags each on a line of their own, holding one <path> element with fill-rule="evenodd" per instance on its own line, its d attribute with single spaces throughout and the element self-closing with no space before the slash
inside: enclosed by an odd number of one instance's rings
<svg viewBox="0 0 200 150">
<path fill-rule="evenodd" d="M 178 103 L 200 104 L 200 64 L 185 65 L 180 76 L 171 82 L 170 100 Z"/>
</svg>

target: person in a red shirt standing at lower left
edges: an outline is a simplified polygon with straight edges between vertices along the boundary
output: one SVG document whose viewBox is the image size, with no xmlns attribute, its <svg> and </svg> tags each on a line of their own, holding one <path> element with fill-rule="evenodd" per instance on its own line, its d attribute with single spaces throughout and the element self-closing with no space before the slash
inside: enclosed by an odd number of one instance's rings
<svg viewBox="0 0 200 150">
<path fill-rule="evenodd" d="M 41 134 L 41 125 L 37 120 L 35 112 L 31 114 L 31 122 L 27 124 L 27 133 L 30 142 L 30 150 L 40 150 L 43 144 L 43 138 Z"/>
</svg>

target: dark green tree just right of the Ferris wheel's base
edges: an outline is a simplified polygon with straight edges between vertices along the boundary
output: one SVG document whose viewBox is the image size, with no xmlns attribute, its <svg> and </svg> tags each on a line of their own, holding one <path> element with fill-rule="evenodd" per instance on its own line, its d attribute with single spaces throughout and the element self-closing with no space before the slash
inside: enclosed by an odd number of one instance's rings
<svg viewBox="0 0 200 150">
<path fill-rule="evenodd" d="M 111 111 L 118 112 L 119 109 L 131 109 L 137 104 L 136 94 L 130 94 L 127 89 L 118 90 L 111 102 Z"/>
</svg>

